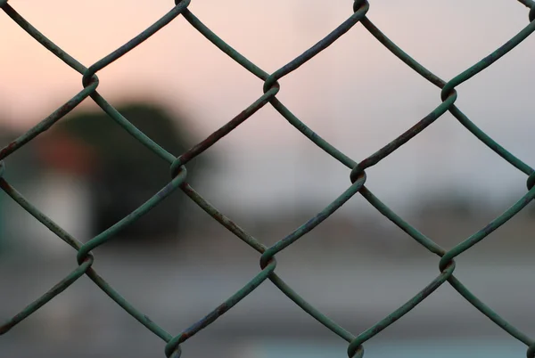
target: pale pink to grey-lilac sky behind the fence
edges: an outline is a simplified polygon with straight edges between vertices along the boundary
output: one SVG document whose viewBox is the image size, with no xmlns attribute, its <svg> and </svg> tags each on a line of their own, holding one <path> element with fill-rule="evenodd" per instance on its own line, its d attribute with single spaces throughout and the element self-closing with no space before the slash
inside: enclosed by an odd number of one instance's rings
<svg viewBox="0 0 535 358">
<path fill-rule="evenodd" d="M 481 60 L 528 24 L 528 10 L 514 0 L 494 0 L 492 6 L 482 0 L 370 3 L 368 17 L 375 25 L 444 79 Z M 169 12 L 173 1 L 11 0 L 9 4 L 89 67 Z M 192 0 L 189 8 L 219 37 L 268 72 L 314 45 L 351 14 L 349 0 L 333 4 L 319 0 Z M 0 112 L 13 126 L 28 129 L 78 93 L 81 76 L 5 14 L 0 16 L 0 33 L 4 34 L 0 38 Z M 461 85 L 457 102 L 476 124 L 528 164 L 535 129 L 529 120 L 534 54 L 535 37 L 530 37 Z M 170 108 L 191 114 L 199 139 L 262 94 L 258 78 L 180 17 L 98 76 L 98 91 L 112 104 L 148 91 Z M 440 103 L 436 87 L 408 69 L 360 25 L 280 83 L 277 97 L 357 161 Z M 84 105 L 94 104 L 89 99 Z M 235 172 L 218 184 L 222 203 L 235 197 L 233 191 L 240 191 L 247 201 L 241 204 L 246 207 L 268 205 L 269 199 L 307 199 L 310 193 L 323 205 L 350 184 L 347 169 L 315 149 L 269 106 L 214 150 L 232 157 L 227 165 Z M 396 179 L 404 185 L 401 192 L 391 185 L 392 172 L 403 172 L 402 178 Z M 450 116 L 439 119 L 370 169 L 368 180 L 370 189 L 376 188 L 381 198 L 396 200 L 424 183 L 434 183 L 436 188 L 440 180 L 451 184 L 460 176 L 466 177 L 469 188 L 494 190 L 494 195 L 500 192 L 496 193 L 497 185 L 518 187 L 525 180 Z"/>
</svg>

